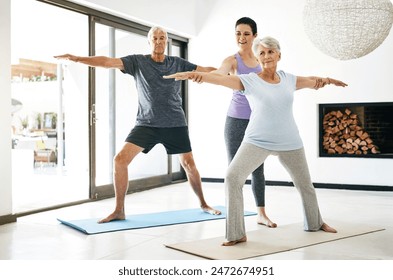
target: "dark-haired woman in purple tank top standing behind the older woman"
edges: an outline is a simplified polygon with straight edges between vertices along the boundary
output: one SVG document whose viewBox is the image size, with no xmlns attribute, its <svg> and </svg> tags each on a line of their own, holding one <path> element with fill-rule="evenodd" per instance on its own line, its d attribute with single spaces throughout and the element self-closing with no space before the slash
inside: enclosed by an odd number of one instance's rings
<svg viewBox="0 0 393 280">
<path fill-rule="evenodd" d="M 248 74 L 250 72 L 260 73 L 262 71 L 252 51 L 254 39 L 257 37 L 257 24 L 248 17 L 240 18 L 235 25 L 236 42 L 239 51 L 224 59 L 219 69 L 214 72 L 221 74 Z M 246 97 L 238 91 L 233 91 L 232 100 L 228 108 L 225 122 L 224 136 L 227 148 L 228 163 L 235 156 L 246 131 L 251 115 L 251 108 Z M 252 172 L 252 191 L 257 205 L 257 222 L 268 227 L 276 227 L 266 215 L 265 211 L 265 176 L 263 164 Z"/>
</svg>

